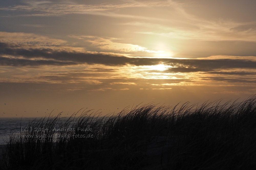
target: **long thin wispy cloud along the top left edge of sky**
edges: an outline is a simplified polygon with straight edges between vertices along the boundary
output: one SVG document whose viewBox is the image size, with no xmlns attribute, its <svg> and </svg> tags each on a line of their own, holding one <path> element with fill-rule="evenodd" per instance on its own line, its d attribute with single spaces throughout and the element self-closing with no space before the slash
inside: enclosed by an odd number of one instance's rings
<svg viewBox="0 0 256 170">
<path fill-rule="evenodd" d="M 121 8 L 134 7 L 164 7 L 170 6 L 171 3 L 166 1 L 147 1 L 147 2 L 133 2 L 125 4 L 99 4 L 99 5 L 72 5 L 72 4 L 53 4 L 48 1 L 34 2 L 27 1 L 29 5 L 16 5 L 12 7 L 3 7 L 0 10 L 8 11 L 26 11 L 33 12 L 31 14 L 24 14 L 25 16 L 61 16 L 67 14 L 100 14 L 94 12 L 110 11 Z M 103 15 L 103 14 L 101 14 Z"/>
</svg>

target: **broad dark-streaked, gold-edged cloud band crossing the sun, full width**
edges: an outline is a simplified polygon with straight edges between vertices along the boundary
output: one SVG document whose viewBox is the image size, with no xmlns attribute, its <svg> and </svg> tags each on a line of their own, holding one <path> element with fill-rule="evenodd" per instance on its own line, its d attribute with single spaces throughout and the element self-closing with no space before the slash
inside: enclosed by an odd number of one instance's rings
<svg viewBox="0 0 256 170">
<path fill-rule="evenodd" d="M 76 83 L 77 90 L 152 89 L 155 88 L 153 84 L 158 84 L 159 89 L 166 89 L 172 88 L 170 85 L 255 83 L 255 78 L 252 78 L 256 75 L 255 56 L 195 59 L 128 57 L 120 53 L 86 51 L 84 48 L 67 46 L 69 44 L 66 41 L 35 34 L 0 34 L 3 37 L 0 40 L 0 66 L 23 67 L 28 70 L 23 75 L 17 75 L 17 71 L 2 67 L 5 69 L 1 73 L 2 82 Z M 80 38 L 92 41 L 94 45 L 105 45 L 104 48 L 110 51 L 120 51 L 123 46 L 127 46 L 118 43 L 120 39 L 111 37 Z M 147 68 L 155 65 L 165 69 Z"/>
</svg>

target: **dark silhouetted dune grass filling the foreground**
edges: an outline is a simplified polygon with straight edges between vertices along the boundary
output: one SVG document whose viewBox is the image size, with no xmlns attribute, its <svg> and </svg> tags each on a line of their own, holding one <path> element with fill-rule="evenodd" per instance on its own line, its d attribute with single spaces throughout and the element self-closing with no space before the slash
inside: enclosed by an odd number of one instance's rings
<svg viewBox="0 0 256 170">
<path fill-rule="evenodd" d="M 148 104 L 104 117 L 90 112 L 30 122 L 30 129 L 42 129 L 11 135 L 0 169 L 256 167 L 255 95 L 225 104 Z"/>
</svg>

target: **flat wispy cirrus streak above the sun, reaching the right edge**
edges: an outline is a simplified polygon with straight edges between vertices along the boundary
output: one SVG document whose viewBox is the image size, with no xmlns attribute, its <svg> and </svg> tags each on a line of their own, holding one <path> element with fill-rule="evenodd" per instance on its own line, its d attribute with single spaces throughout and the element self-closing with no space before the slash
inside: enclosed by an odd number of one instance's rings
<svg viewBox="0 0 256 170">
<path fill-rule="evenodd" d="M 180 21 L 175 21 L 176 25 Z M 130 22 L 124 25 L 134 25 L 145 28 L 151 28 L 152 31 L 136 31 L 139 34 L 157 35 L 169 38 L 184 40 L 203 40 L 203 41 L 256 41 L 256 22 L 216 22 L 199 21 L 189 24 L 194 29 L 187 27 L 173 27 L 169 25 Z M 240 29 L 241 28 L 241 29 Z M 158 29 L 159 31 L 155 31 Z"/>
</svg>

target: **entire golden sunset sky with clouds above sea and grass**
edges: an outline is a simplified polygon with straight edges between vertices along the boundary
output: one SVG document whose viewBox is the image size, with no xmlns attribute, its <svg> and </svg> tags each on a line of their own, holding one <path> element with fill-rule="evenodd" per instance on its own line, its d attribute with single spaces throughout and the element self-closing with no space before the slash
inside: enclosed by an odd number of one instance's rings
<svg viewBox="0 0 256 170">
<path fill-rule="evenodd" d="M 244 100 L 255 0 L 3 0 L 0 116 Z"/>
</svg>

